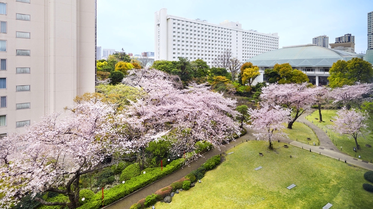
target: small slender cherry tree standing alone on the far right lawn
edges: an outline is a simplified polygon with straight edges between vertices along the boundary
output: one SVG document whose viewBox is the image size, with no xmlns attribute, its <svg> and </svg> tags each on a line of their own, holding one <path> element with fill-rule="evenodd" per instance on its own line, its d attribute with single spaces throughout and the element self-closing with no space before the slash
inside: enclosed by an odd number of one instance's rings
<svg viewBox="0 0 373 209">
<path fill-rule="evenodd" d="M 332 129 L 339 134 L 351 135 L 355 140 L 356 148 L 360 149 L 360 145 L 357 143 L 357 137 L 367 131 L 365 128 L 367 125 L 365 121 L 368 119 L 367 112 L 360 112 L 356 109 L 350 109 L 343 107 L 337 112 L 337 116 L 334 117 L 334 126 Z"/>
</svg>

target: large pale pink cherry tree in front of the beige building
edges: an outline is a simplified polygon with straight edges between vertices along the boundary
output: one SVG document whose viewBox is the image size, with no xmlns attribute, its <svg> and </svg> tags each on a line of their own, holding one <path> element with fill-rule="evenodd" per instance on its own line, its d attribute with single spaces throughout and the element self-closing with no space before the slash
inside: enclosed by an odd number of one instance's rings
<svg viewBox="0 0 373 209">
<path fill-rule="evenodd" d="M 102 169 L 103 160 L 130 149 L 120 133 L 115 107 L 101 101 L 74 106 L 66 114 L 44 116 L 40 122 L 0 140 L 0 207 L 9 208 L 31 193 L 45 205 L 79 206 L 79 179 Z M 47 202 L 35 197 L 56 192 L 67 202 Z"/>
</svg>

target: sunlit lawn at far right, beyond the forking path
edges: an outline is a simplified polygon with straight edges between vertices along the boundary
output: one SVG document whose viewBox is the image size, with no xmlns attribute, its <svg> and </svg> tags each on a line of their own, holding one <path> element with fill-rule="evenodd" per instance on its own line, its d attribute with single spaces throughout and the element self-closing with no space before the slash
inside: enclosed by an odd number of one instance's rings
<svg viewBox="0 0 373 209">
<path fill-rule="evenodd" d="M 327 125 L 334 125 L 334 122 L 331 122 L 330 120 L 334 120 L 333 117 L 336 116 L 337 110 L 322 110 L 321 113 L 323 115 L 323 120 L 325 122 L 316 122 L 314 119 L 319 118 L 319 111 L 313 112 L 311 115 L 307 116 L 306 118 L 309 121 L 314 120 L 314 123 L 319 126 L 320 128 L 323 128 L 324 131 L 327 130 L 327 134 L 339 149 L 342 147 L 342 152 L 351 155 L 351 156 L 361 156 L 361 159 L 367 160 L 370 162 L 372 160 L 373 162 L 373 147 L 366 147 L 365 144 L 370 144 L 373 146 L 373 135 L 370 133 L 366 136 L 359 136 L 357 138 L 357 143 L 360 145 L 361 150 L 357 150 L 357 152 L 353 151 L 353 147 L 356 147 L 355 140 L 350 137 L 349 135 L 340 135 L 338 133 L 333 132 L 330 130 Z M 371 120 L 367 120 L 367 125 L 369 126 L 368 130 L 373 129 L 373 124 Z"/>
</svg>

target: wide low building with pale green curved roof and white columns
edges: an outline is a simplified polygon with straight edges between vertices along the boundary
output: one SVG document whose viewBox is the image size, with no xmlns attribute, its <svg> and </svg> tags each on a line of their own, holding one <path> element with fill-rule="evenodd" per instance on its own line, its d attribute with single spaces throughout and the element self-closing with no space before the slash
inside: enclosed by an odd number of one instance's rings
<svg viewBox="0 0 373 209">
<path fill-rule="evenodd" d="M 327 85 L 329 69 L 338 60 L 348 61 L 352 58 L 363 59 L 363 55 L 328 49 L 314 45 L 283 47 L 255 56 L 246 62 L 259 67 L 260 75 L 256 82 L 266 81 L 265 69 L 272 69 L 275 64 L 289 63 L 293 69 L 307 74 L 315 85 Z"/>
</svg>

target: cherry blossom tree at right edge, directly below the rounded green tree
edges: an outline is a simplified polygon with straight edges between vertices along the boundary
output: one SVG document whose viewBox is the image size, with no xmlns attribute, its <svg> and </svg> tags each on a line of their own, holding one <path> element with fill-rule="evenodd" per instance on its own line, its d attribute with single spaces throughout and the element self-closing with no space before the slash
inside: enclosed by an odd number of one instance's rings
<svg viewBox="0 0 373 209">
<path fill-rule="evenodd" d="M 347 109 L 350 109 L 354 103 L 362 98 L 363 94 L 371 92 L 373 84 L 356 83 L 353 86 L 344 85 L 341 88 L 335 88 L 331 92 L 334 103 L 341 102 Z"/>
</svg>

